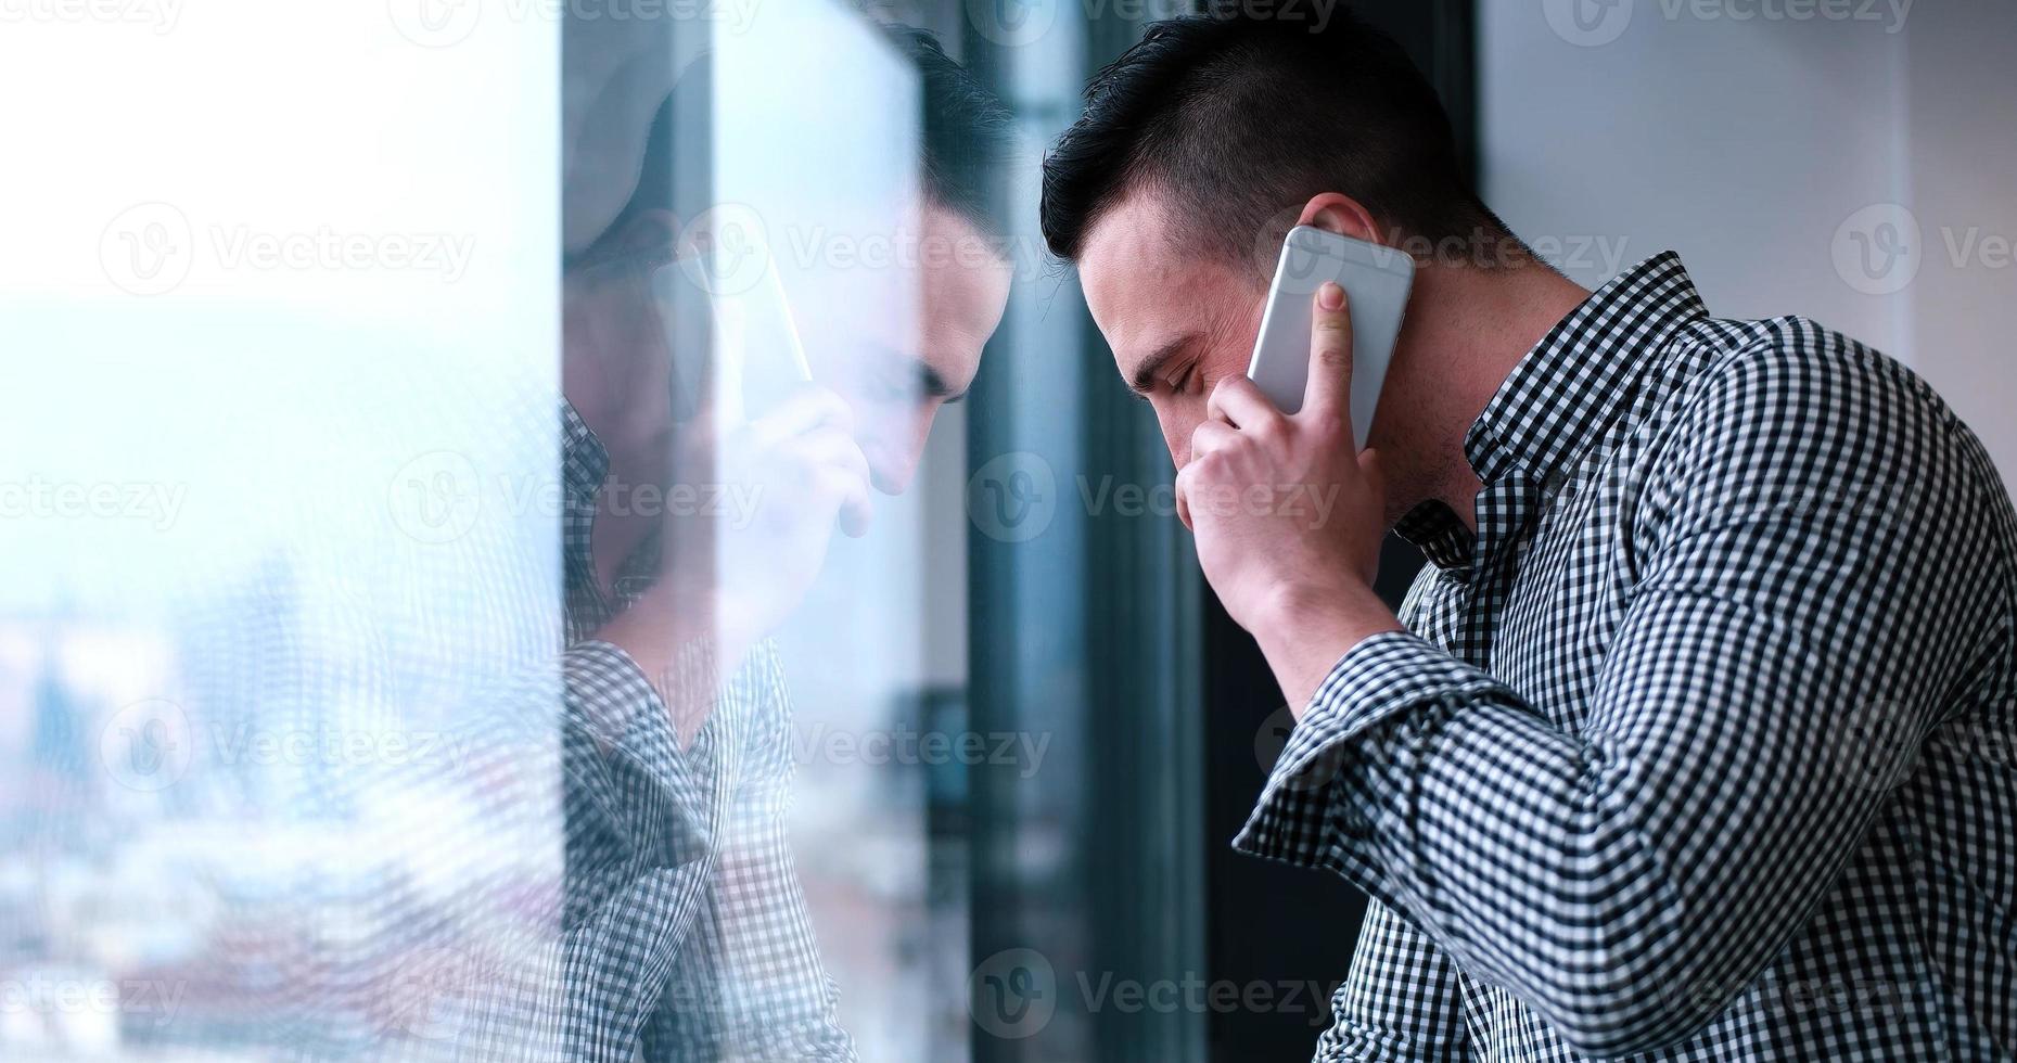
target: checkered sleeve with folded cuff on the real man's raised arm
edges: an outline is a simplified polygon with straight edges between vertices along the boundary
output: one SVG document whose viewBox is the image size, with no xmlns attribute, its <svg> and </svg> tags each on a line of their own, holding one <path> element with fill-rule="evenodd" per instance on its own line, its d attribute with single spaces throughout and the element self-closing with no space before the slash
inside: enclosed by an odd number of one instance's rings
<svg viewBox="0 0 2017 1063">
<path fill-rule="evenodd" d="M 1638 591 L 1589 658 L 1583 726 L 1426 639 L 1370 637 L 1236 847 L 1343 873 L 1573 1051 L 1704 1027 L 1884 803 L 1829 742 L 1874 722 L 1910 750 L 2001 645 L 2009 603 L 1977 593 L 2009 565 L 1989 478 L 1910 387 L 1773 349 L 1704 373 L 1630 492 Z"/>
</svg>

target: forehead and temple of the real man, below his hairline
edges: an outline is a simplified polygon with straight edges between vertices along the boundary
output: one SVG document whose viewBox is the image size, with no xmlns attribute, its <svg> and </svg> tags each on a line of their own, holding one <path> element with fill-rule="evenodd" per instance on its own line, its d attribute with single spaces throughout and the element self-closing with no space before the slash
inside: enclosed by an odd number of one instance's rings
<svg viewBox="0 0 2017 1063">
<path fill-rule="evenodd" d="M 1238 335 L 1261 294 L 1242 272 L 1174 240 L 1168 222 L 1160 196 L 1130 192 L 1093 222 L 1079 254 L 1085 305 L 1123 375 L 1176 337 Z"/>
</svg>

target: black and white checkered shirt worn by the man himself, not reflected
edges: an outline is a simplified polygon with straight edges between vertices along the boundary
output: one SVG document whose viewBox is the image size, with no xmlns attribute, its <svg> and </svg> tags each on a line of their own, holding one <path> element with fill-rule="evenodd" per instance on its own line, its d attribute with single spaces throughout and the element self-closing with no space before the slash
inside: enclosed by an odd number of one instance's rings
<svg viewBox="0 0 2017 1063">
<path fill-rule="evenodd" d="M 2017 518 L 1902 365 L 1674 254 L 1464 440 L 1410 633 L 1236 839 L 1374 904 L 1317 1059 L 2017 1057 Z"/>
</svg>

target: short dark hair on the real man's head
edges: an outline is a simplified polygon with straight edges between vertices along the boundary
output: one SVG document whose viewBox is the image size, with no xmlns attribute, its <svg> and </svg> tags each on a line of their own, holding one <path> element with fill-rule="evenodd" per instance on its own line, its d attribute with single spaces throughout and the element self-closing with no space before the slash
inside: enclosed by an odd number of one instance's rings
<svg viewBox="0 0 2017 1063">
<path fill-rule="evenodd" d="M 1321 28 L 1259 12 L 1150 24 L 1093 75 L 1043 159 L 1051 252 L 1077 260 L 1101 214 L 1144 186 L 1172 198 L 1174 238 L 1263 276 L 1321 192 L 1418 240 L 1509 236 L 1470 190 L 1434 87 L 1343 10 Z"/>
</svg>

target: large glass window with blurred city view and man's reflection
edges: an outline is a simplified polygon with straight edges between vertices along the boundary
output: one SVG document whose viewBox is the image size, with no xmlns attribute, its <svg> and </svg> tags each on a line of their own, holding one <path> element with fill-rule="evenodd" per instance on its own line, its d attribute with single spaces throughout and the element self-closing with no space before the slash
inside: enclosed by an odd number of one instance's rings
<svg viewBox="0 0 2017 1063">
<path fill-rule="evenodd" d="M 1178 6 L 14 8 L 0 1057 L 1240 1057 L 1275 694 L 1037 230 Z"/>
</svg>

